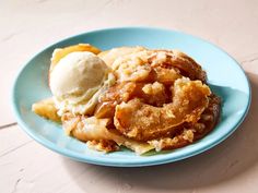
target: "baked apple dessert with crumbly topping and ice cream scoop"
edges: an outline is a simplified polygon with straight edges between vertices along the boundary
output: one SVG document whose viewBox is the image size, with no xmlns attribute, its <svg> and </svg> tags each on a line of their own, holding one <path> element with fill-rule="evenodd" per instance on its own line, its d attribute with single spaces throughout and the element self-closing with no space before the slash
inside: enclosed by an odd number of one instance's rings
<svg viewBox="0 0 258 193">
<path fill-rule="evenodd" d="M 120 146 L 138 155 L 179 148 L 202 138 L 220 118 L 221 101 L 206 72 L 178 50 L 58 48 L 48 83 L 52 97 L 32 110 L 106 153 Z"/>
</svg>

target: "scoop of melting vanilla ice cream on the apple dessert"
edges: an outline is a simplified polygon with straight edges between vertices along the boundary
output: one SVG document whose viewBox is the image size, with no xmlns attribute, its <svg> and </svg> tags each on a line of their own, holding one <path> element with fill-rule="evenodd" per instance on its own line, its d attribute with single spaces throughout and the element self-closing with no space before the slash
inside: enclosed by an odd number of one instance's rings
<svg viewBox="0 0 258 193">
<path fill-rule="evenodd" d="M 98 95 L 115 79 L 105 62 L 92 52 L 71 52 L 62 58 L 49 76 L 58 113 L 92 113 Z"/>
</svg>

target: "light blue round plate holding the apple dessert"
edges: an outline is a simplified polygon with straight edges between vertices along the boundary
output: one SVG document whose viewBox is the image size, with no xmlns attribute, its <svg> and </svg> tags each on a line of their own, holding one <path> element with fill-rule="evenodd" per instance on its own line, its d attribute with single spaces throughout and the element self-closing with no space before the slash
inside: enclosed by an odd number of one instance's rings
<svg viewBox="0 0 258 193">
<path fill-rule="evenodd" d="M 148 48 L 179 49 L 186 52 L 207 71 L 211 88 L 223 99 L 220 123 L 202 140 L 176 150 L 137 156 L 126 148 L 112 154 L 89 149 L 84 143 L 64 135 L 60 125 L 31 111 L 33 102 L 51 96 L 47 79 L 52 50 L 79 43 L 90 43 L 103 50 L 119 46 L 141 45 Z M 44 49 L 26 62 L 20 71 L 12 96 L 19 124 L 44 146 L 79 161 L 104 166 L 136 167 L 161 165 L 191 157 L 225 140 L 242 123 L 248 111 L 250 86 L 238 63 L 210 43 L 180 32 L 122 27 L 81 34 Z"/>
</svg>

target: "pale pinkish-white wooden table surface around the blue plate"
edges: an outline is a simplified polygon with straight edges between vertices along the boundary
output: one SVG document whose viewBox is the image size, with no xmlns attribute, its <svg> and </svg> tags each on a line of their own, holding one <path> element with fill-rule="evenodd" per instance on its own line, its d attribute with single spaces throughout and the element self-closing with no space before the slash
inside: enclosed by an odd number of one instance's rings
<svg viewBox="0 0 258 193">
<path fill-rule="evenodd" d="M 211 150 L 145 168 L 77 162 L 30 138 L 10 107 L 19 68 L 49 44 L 115 26 L 183 31 L 226 50 L 242 64 L 253 87 L 244 123 Z M 1 193 L 258 192 L 258 0 L 0 1 L 0 56 Z"/>
</svg>

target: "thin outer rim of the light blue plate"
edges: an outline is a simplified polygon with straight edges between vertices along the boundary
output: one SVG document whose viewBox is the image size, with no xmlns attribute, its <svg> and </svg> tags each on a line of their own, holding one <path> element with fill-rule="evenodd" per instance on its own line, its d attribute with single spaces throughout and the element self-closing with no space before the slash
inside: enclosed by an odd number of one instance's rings
<svg viewBox="0 0 258 193">
<path fill-rule="evenodd" d="M 148 157 L 148 159 L 141 160 L 139 162 L 130 161 L 130 160 L 127 160 L 127 159 L 117 161 L 117 160 L 110 159 L 108 157 L 107 158 L 103 158 L 103 157 L 102 158 L 96 158 L 96 157 L 89 157 L 89 156 L 85 157 L 83 154 L 74 153 L 74 152 L 66 149 L 66 148 L 60 148 L 55 143 L 50 143 L 47 140 L 42 138 L 40 136 L 35 135 L 32 132 L 33 128 L 28 126 L 26 124 L 26 122 L 22 119 L 22 116 L 21 116 L 21 113 L 17 110 L 17 101 L 15 99 L 15 95 L 16 95 L 15 91 L 16 91 L 16 87 L 17 87 L 17 79 L 22 74 L 22 72 L 24 71 L 26 65 L 32 60 L 34 60 L 38 55 L 40 55 L 42 52 L 46 51 L 47 49 L 54 47 L 55 45 L 60 44 L 61 41 L 67 41 L 67 40 L 73 39 L 73 38 L 79 37 L 79 36 L 85 36 L 85 35 L 90 35 L 90 34 L 94 34 L 94 33 L 98 33 L 98 32 L 105 33 L 105 32 L 108 32 L 108 31 L 120 31 L 120 29 L 125 29 L 125 31 L 131 31 L 131 29 L 133 29 L 133 31 L 141 31 L 141 29 L 145 29 L 145 31 L 159 31 L 159 32 L 166 32 L 166 33 L 177 33 L 177 34 L 183 34 L 183 35 L 189 36 L 191 38 L 198 39 L 199 41 L 206 43 L 206 44 L 208 44 L 211 47 L 220 49 L 222 52 L 224 52 L 228 58 L 231 58 L 234 61 L 234 64 L 244 74 L 244 76 L 246 79 L 246 82 L 247 82 L 247 85 L 248 85 L 248 102 L 247 102 L 247 106 L 245 108 L 245 111 L 244 111 L 242 118 L 237 122 L 235 122 L 234 126 L 232 126 L 232 129 L 226 134 L 224 134 L 223 136 L 220 136 L 219 138 L 210 141 L 209 143 L 206 143 L 203 146 L 198 147 L 198 149 L 195 149 L 195 150 L 191 150 L 191 152 L 184 152 L 183 154 L 179 154 L 177 156 L 169 156 L 169 155 L 173 155 L 173 154 L 167 154 L 166 157 L 162 157 L 162 158 L 159 158 L 159 157 L 155 158 L 155 156 L 151 156 L 151 157 Z M 126 27 L 103 28 L 103 29 L 90 31 L 90 32 L 86 32 L 86 33 L 78 34 L 78 35 L 74 35 L 74 36 L 61 39 L 60 41 L 57 41 L 57 43 L 46 47 L 45 49 L 38 51 L 36 55 L 34 55 L 34 57 L 32 57 L 27 62 L 25 62 L 24 65 L 21 67 L 21 69 L 19 70 L 19 72 L 17 72 L 17 74 L 16 74 L 16 76 L 14 79 L 11 92 L 12 92 L 11 93 L 12 110 L 14 112 L 16 121 L 17 121 L 19 125 L 21 125 L 21 128 L 32 138 L 34 138 L 36 142 L 38 142 L 43 146 L 45 146 L 45 147 L 47 147 L 47 148 L 49 148 L 49 149 L 51 149 L 51 150 L 54 150 L 56 153 L 59 153 L 59 154 L 64 155 L 67 157 L 70 157 L 70 158 L 72 158 L 74 160 L 79 160 L 79 161 L 82 161 L 82 162 L 94 164 L 94 165 L 101 165 L 101 166 L 113 166 L 113 167 L 155 166 L 155 165 L 162 165 L 162 164 L 168 164 L 168 162 L 178 161 L 178 160 L 186 159 L 188 157 L 192 157 L 192 156 L 196 156 L 198 154 L 201 154 L 201 153 L 203 153 L 203 152 L 214 147 L 215 145 L 220 144 L 221 142 L 223 142 L 225 138 L 227 138 L 239 126 L 239 124 L 244 121 L 245 117 L 247 116 L 249 107 L 250 107 L 250 102 L 251 102 L 251 87 L 250 87 L 249 80 L 248 80 L 247 75 L 245 74 L 245 71 L 241 67 L 241 64 L 238 64 L 238 62 L 234 58 L 232 58 L 226 51 L 224 51 L 220 47 L 218 47 L 218 46 L 215 46 L 215 45 L 213 45 L 213 44 L 211 44 L 211 43 L 209 43 L 209 41 L 207 41 L 207 40 L 204 40 L 202 38 L 199 38 L 199 37 L 196 37 L 196 36 L 192 36 L 192 35 L 189 35 L 189 34 L 186 34 L 186 33 L 183 33 L 183 32 L 179 32 L 179 31 L 166 29 L 166 28 L 157 28 L 157 27 L 144 27 L 144 26 L 137 26 L 137 27 L 134 27 L 134 26 L 126 26 Z"/>
</svg>

